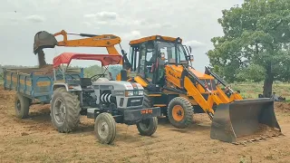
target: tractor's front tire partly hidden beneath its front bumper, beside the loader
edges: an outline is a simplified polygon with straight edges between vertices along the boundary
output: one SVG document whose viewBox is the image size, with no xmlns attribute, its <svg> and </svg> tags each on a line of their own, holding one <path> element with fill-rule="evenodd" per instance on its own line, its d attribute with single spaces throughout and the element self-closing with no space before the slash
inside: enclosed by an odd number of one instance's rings
<svg viewBox="0 0 290 163">
<path fill-rule="evenodd" d="M 141 136 L 151 136 L 157 130 L 158 119 L 157 117 L 152 117 L 147 120 L 141 120 L 136 126 Z"/>
</svg>

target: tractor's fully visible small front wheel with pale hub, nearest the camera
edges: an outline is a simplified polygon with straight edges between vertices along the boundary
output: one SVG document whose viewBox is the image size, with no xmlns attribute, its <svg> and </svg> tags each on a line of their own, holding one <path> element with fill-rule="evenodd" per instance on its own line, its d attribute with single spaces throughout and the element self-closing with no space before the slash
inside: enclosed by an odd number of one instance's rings
<svg viewBox="0 0 290 163">
<path fill-rule="evenodd" d="M 116 122 L 110 113 L 103 112 L 97 116 L 94 121 L 94 134 L 100 143 L 111 144 L 116 138 L 116 132 Z"/>
</svg>

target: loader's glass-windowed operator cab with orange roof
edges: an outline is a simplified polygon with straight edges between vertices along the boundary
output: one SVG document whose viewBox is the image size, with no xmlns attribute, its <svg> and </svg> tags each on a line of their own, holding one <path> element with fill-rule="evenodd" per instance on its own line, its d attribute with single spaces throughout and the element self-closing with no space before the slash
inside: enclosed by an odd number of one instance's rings
<svg viewBox="0 0 290 163">
<path fill-rule="evenodd" d="M 130 42 L 128 57 L 131 76 L 139 74 L 143 85 L 151 91 L 159 91 L 165 84 L 165 65 L 189 64 L 192 61 L 191 48 L 182 45 L 180 38 L 153 35 Z M 136 80 L 136 79 L 134 79 Z M 138 80 L 138 79 L 137 79 Z"/>
</svg>

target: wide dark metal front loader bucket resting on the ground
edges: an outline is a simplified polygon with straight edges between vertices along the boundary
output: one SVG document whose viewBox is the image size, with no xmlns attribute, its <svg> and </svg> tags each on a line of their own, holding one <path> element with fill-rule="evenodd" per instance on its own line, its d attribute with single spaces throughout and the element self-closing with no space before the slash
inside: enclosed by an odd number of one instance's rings
<svg viewBox="0 0 290 163">
<path fill-rule="evenodd" d="M 275 118 L 274 100 L 265 98 L 218 105 L 210 138 L 234 143 L 273 134 L 281 134 L 281 129 Z"/>
</svg>

